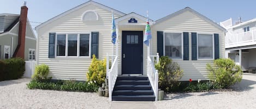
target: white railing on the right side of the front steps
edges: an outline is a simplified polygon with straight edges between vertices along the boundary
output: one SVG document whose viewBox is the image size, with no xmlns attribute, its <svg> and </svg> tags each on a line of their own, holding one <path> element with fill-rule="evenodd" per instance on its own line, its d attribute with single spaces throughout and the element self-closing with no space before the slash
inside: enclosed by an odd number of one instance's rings
<svg viewBox="0 0 256 109">
<path fill-rule="evenodd" d="M 158 100 L 158 71 L 154 68 L 154 60 L 156 57 L 156 63 L 159 62 L 159 55 L 147 56 L 147 76 L 150 80 L 151 86 L 156 96 L 156 101 Z M 153 60 L 153 61 L 152 61 Z"/>
</svg>

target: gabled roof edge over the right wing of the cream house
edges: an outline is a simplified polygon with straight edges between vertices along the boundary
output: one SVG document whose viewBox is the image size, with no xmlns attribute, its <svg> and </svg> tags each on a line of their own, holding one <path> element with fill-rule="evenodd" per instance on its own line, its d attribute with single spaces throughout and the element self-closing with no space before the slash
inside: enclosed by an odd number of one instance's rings
<svg viewBox="0 0 256 109">
<path fill-rule="evenodd" d="M 177 11 L 177 12 L 174 12 L 173 14 L 170 14 L 170 15 L 165 16 L 165 17 L 163 17 L 163 18 L 160 18 L 159 20 L 156 21 L 155 24 L 158 24 L 158 23 L 164 22 L 164 21 L 166 21 L 166 20 L 169 20 L 170 18 L 175 17 L 175 16 L 177 16 L 177 15 L 180 15 L 180 14 L 182 14 L 183 12 L 186 12 L 186 11 L 192 12 L 193 14 L 199 16 L 199 17 L 202 18 L 203 20 L 209 22 L 210 24 L 214 25 L 216 28 L 219 28 L 219 29 L 223 30 L 224 32 L 227 31 L 225 28 L 221 27 L 221 25 L 219 25 L 219 24 L 213 22 L 213 21 L 210 20 L 209 18 L 205 17 L 204 15 L 201 15 L 199 12 L 197 12 L 197 11 L 195 11 L 195 10 L 189 8 L 189 7 L 186 7 L 186 8 L 184 8 L 184 9 L 182 9 L 182 10 L 179 10 L 179 11 Z"/>
</svg>

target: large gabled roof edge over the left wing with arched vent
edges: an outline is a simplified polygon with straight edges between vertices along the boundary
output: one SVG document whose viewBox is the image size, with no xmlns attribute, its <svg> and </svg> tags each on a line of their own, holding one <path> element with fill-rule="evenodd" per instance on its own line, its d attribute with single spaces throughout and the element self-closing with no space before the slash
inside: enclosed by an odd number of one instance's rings
<svg viewBox="0 0 256 109">
<path fill-rule="evenodd" d="M 124 13 L 121 12 L 121 11 L 112 9 L 112 8 L 106 6 L 106 5 L 103 5 L 103 4 L 100 4 L 100 3 L 98 3 L 98 2 L 94 2 L 94 1 L 91 1 L 91 0 L 90 0 L 90 1 L 88 1 L 88 2 L 85 2 L 84 4 L 78 5 L 78 6 L 75 7 L 75 8 L 72 8 L 72 9 L 70 9 L 70 10 L 67 10 L 67 11 L 63 12 L 62 14 L 59 14 L 59 15 L 57 15 L 57 16 L 51 18 L 50 20 L 48 20 L 48 21 L 46 21 L 46 22 L 44 22 L 44 23 L 41 23 L 40 25 L 38 25 L 37 27 L 35 27 L 35 30 L 38 30 L 39 28 L 43 27 L 44 25 L 49 24 L 49 23 L 51 23 L 51 22 L 57 20 L 58 18 L 61 18 L 61 17 L 65 16 L 65 15 L 71 13 L 71 12 L 74 12 L 74 11 L 76 11 L 76 10 L 82 8 L 82 7 L 85 7 L 86 5 L 90 5 L 90 4 L 97 5 L 97 6 L 101 7 L 101 8 L 106 9 L 106 10 L 109 10 L 109 11 L 113 11 L 115 14 L 118 14 L 118 15 L 120 15 L 120 16 L 126 15 L 126 14 L 124 14 Z"/>
</svg>

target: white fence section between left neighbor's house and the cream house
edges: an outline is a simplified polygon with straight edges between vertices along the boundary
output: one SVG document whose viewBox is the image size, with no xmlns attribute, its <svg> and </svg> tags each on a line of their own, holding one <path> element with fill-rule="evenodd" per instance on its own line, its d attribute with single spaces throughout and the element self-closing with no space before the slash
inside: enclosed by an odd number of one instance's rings
<svg viewBox="0 0 256 109">
<path fill-rule="evenodd" d="M 37 63 L 37 61 L 25 61 L 26 65 L 25 65 L 25 73 L 23 74 L 23 77 L 29 77 L 31 78 L 31 76 L 34 74 L 34 69 L 35 69 L 35 65 Z"/>
</svg>

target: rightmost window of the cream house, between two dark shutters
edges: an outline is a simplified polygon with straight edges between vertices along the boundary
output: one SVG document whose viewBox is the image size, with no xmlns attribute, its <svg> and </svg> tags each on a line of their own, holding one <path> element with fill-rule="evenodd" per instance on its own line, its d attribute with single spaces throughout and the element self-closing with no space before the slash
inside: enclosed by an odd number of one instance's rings
<svg viewBox="0 0 256 109">
<path fill-rule="evenodd" d="M 213 34 L 198 34 L 198 59 L 213 59 Z"/>
</svg>

